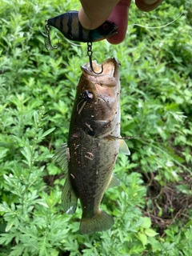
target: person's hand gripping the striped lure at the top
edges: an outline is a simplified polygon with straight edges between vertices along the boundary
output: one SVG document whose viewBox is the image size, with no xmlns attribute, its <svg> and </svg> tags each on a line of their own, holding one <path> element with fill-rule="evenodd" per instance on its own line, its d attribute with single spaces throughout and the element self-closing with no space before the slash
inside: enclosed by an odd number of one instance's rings
<svg viewBox="0 0 192 256">
<path fill-rule="evenodd" d="M 126 36 L 129 8 L 131 0 L 80 0 L 82 7 L 78 18 L 83 27 L 94 30 L 103 22 L 109 20 L 118 26 L 118 34 L 107 41 L 112 44 L 122 42 Z M 163 0 L 135 0 L 138 9 L 143 11 L 154 10 Z"/>
</svg>

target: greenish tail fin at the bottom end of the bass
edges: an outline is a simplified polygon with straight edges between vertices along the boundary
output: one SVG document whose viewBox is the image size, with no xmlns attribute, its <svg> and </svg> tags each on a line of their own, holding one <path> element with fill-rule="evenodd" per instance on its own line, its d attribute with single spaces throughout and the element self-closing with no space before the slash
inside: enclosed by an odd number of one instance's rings
<svg viewBox="0 0 192 256">
<path fill-rule="evenodd" d="M 92 218 L 82 216 L 79 230 L 81 234 L 91 234 L 98 231 L 109 230 L 113 225 L 114 218 L 106 214 L 105 211 L 100 210 L 99 213 Z"/>
</svg>

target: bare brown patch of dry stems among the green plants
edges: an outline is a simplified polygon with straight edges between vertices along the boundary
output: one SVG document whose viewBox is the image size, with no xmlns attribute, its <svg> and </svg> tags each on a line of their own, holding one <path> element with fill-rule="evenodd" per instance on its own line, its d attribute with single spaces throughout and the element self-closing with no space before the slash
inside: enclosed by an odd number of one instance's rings
<svg viewBox="0 0 192 256">
<path fill-rule="evenodd" d="M 190 174 L 182 174 L 183 182 L 169 183 L 166 186 L 161 186 L 154 179 L 153 173 L 143 175 L 148 186 L 146 207 L 142 210 L 144 216 L 150 217 L 153 226 L 158 227 L 158 232 L 163 236 L 166 227 L 176 222 L 178 218 L 182 224 L 185 224 L 189 219 L 187 210 L 192 209 Z M 184 186 L 186 190 L 179 190 L 178 186 Z"/>
</svg>

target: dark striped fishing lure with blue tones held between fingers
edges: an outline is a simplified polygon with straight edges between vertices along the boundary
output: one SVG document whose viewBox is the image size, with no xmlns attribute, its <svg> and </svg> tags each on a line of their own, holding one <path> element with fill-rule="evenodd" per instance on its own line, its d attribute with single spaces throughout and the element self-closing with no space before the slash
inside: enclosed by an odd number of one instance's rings
<svg viewBox="0 0 192 256">
<path fill-rule="evenodd" d="M 54 26 L 67 39 L 76 42 L 98 42 L 118 33 L 118 26 L 109 21 L 104 22 L 95 30 L 86 30 L 79 22 L 78 11 L 76 10 L 70 10 L 65 14 L 49 18 L 46 20 L 46 24 Z"/>
</svg>

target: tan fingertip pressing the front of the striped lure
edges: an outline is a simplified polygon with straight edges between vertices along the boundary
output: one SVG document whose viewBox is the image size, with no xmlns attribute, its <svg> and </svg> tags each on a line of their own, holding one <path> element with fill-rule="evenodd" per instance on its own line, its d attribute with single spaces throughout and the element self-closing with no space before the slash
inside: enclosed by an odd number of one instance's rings
<svg viewBox="0 0 192 256">
<path fill-rule="evenodd" d="M 80 0 L 82 7 L 78 18 L 82 26 L 94 30 L 105 22 L 119 0 Z"/>
</svg>

